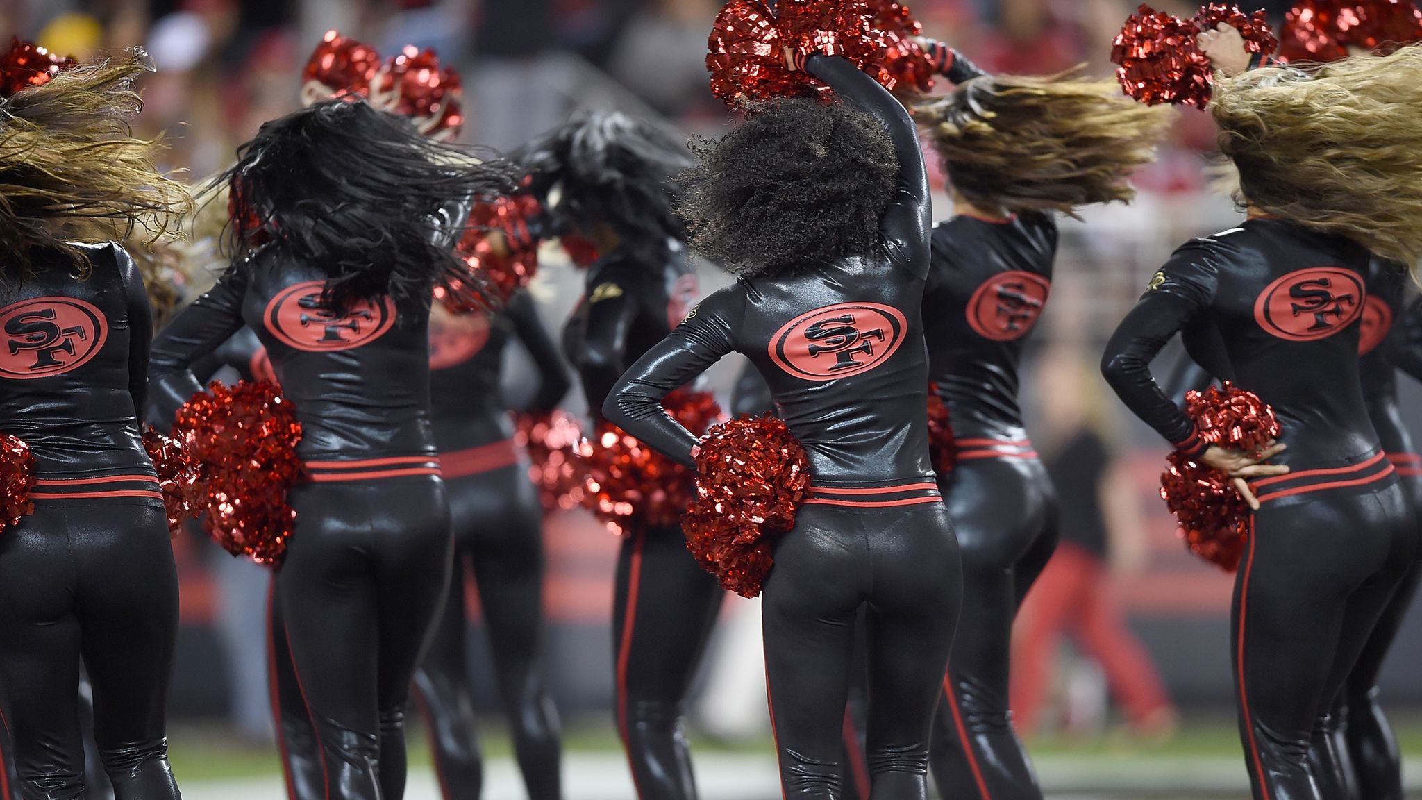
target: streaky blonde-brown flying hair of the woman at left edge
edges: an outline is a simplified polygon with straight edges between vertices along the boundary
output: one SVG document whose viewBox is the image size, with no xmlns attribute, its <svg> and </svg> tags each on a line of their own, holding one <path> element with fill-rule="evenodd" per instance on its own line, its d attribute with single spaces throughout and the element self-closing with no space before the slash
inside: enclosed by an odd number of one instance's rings
<svg viewBox="0 0 1422 800">
<path fill-rule="evenodd" d="M 82 279 L 88 256 L 73 242 L 175 235 L 192 198 L 158 171 L 161 142 L 129 128 L 144 105 L 134 80 L 149 71 L 135 47 L 0 101 L 0 276 L 24 280 L 58 253 Z"/>
</svg>

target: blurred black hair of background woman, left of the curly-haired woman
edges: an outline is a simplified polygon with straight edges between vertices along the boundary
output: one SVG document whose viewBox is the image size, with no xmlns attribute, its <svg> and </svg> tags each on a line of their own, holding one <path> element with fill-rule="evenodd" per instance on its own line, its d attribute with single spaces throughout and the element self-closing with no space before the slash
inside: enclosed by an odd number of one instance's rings
<svg viewBox="0 0 1422 800">
<path fill-rule="evenodd" d="M 586 231 L 604 223 L 621 239 L 619 249 L 657 265 L 667 258 L 668 239 L 685 239 L 673 211 L 673 178 L 691 167 L 691 154 L 647 122 L 593 112 L 539 135 L 509 158 L 528 172 L 560 226 Z"/>
</svg>

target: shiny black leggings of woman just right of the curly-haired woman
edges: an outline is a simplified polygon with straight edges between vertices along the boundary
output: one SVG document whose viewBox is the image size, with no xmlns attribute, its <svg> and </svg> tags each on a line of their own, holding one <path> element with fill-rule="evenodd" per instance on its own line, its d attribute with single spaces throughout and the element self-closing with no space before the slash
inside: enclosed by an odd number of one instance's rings
<svg viewBox="0 0 1422 800">
<path fill-rule="evenodd" d="M 1057 500 L 1037 458 L 974 458 L 940 483 L 963 552 L 963 615 L 929 763 L 939 794 L 1041 800 L 1012 730 L 1012 618 L 1057 548 Z"/>
</svg>

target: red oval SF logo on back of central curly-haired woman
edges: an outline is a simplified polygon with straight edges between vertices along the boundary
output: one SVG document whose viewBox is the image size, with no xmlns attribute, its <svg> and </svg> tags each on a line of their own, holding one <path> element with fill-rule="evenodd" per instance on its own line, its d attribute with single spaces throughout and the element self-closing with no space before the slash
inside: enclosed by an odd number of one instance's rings
<svg viewBox="0 0 1422 800">
<path fill-rule="evenodd" d="M 803 313 L 771 337 L 771 360 L 803 380 L 869 372 L 903 344 L 907 320 L 879 303 L 835 303 Z"/>
</svg>

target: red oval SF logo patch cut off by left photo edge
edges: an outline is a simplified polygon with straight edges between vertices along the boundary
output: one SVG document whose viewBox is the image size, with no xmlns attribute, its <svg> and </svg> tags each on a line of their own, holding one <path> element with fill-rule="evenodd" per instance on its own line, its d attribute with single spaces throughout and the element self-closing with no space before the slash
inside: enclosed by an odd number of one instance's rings
<svg viewBox="0 0 1422 800">
<path fill-rule="evenodd" d="M 73 298 L 34 298 L 0 309 L 0 377 L 27 380 L 78 369 L 108 342 L 104 312 Z"/>
</svg>

